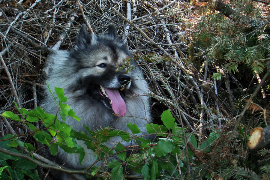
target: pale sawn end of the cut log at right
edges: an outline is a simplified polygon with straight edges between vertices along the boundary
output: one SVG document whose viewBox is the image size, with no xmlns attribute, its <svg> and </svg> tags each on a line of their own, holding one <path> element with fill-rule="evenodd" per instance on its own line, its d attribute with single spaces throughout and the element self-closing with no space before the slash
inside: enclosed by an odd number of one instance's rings
<svg viewBox="0 0 270 180">
<path fill-rule="evenodd" d="M 250 138 L 247 142 L 249 149 L 255 149 L 258 144 L 262 141 L 263 128 L 258 127 L 250 131 Z"/>
</svg>

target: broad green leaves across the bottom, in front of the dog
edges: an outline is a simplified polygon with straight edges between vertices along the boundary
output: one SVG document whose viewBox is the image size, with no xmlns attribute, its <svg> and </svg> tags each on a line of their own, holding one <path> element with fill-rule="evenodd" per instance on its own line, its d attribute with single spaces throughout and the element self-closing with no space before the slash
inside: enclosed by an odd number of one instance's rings
<svg viewBox="0 0 270 180">
<path fill-rule="evenodd" d="M 79 120 L 77 116 L 73 113 L 73 110 L 68 106 L 61 106 L 62 103 L 67 101 L 64 96 L 64 92 L 55 88 L 59 111 L 63 113 L 63 116 L 72 116 L 74 119 Z M 182 129 L 179 124 L 175 121 L 175 118 L 171 114 L 170 110 L 166 110 L 161 115 L 161 120 L 164 125 L 148 124 L 146 125 L 147 132 L 149 134 L 156 134 L 159 138 L 157 143 L 151 144 L 149 139 L 138 136 L 140 129 L 137 125 L 128 123 L 128 128 L 133 134 L 127 132 L 112 130 L 110 128 L 104 128 L 96 132 L 91 131 L 89 127 L 85 127 L 88 134 L 85 132 L 77 132 L 71 129 L 65 122 L 58 119 L 57 116 L 46 113 L 41 108 L 37 107 L 36 110 L 26 110 L 24 108 L 18 108 L 20 115 L 16 115 L 12 112 L 3 113 L 2 116 L 10 118 L 11 120 L 18 121 L 18 117 L 22 117 L 20 122 L 23 122 L 26 129 L 31 129 L 32 137 L 38 142 L 48 146 L 52 155 L 56 155 L 58 148 L 60 147 L 67 153 L 78 153 L 79 162 L 81 163 L 85 157 L 85 149 L 79 146 L 76 141 L 82 140 L 88 149 L 91 149 L 95 154 L 97 160 L 102 161 L 107 159 L 108 156 L 115 156 L 117 159 L 110 161 L 104 167 L 96 167 L 93 164 L 92 175 L 98 175 L 104 172 L 106 178 L 113 177 L 113 179 L 124 179 L 125 167 L 131 169 L 135 173 L 141 174 L 145 180 L 151 179 L 181 179 L 188 178 L 185 176 L 187 170 L 190 169 L 190 161 L 195 161 L 195 152 L 203 154 L 211 154 L 215 151 L 215 146 L 217 140 L 220 139 L 220 132 L 213 131 L 209 134 L 202 144 L 198 143 L 195 135 L 189 134 L 186 130 Z M 15 116 L 16 115 L 16 116 Z M 62 116 L 61 116 L 62 118 Z M 63 119 L 64 120 L 64 119 Z M 36 128 L 32 125 L 32 122 L 39 121 L 44 125 L 48 131 L 45 129 Z M 243 129 L 242 129 L 243 131 Z M 136 153 L 128 156 L 128 151 L 133 151 L 134 149 L 126 149 L 121 143 L 116 143 L 113 147 L 109 148 L 103 143 L 107 142 L 112 137 L 121 137 L 123 141 L 130 142 L 131 139 L 137 143 L 139 146 Z M 193 146 L 193 150 L 187 148 Z M 6 135 L 0 140 L 1 148 L 18 152 L 24 154 L 23 149 L 27 149 L 30 153 L 34 152 L 36 149 L 32 144 L 22 141 L 20 135 Z M 267 152 L 262 152 L 265 155 Z M 23 158 L 13 157 L 8 154 L 0 153 L 0 164 L 5 166 L 1 178 L 3 179 L 38 179 L 38 175 L 35 171 L 37 165 L 31 161 Z M 197 161 L 194 167 L 190 170 L 196 170 L 201 162 Z M 90 166 L 90 164 L 89 164 Z M 234 171 L 231 169 L 234 168 Z M 264 165 L 261 167 L 261 171 L 265 174 L 269 173 L 269 166 Z M 109 174 L 110 173 L 110 174 Z M 256 179 L 259 176 L 255 171 L 249 170 L 246 167 L 228 167 L 228 169 L 223 170 L 224 178 L 229 179 L 230 177 L 246 177 Z M 203 175 L 196 175 L 201 178 L 210 178 L 211 174 L 208 171 L 204 171 Z M 170 178 L 169 178 L 170 177 Z M 104 177 L 105 178 L 105 177 Z"/>
</svg>

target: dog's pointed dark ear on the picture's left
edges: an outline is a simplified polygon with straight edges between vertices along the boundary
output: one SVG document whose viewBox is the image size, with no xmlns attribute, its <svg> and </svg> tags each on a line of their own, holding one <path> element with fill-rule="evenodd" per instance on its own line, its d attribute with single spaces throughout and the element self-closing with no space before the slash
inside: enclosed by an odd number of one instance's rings
<svg viewBox="0 0 270 180">
<path fill-rule="evenodd" d="M 88 33 L 86 25 L 82 24 L 79 34 L 77 35 L 76 46 L 82 49 L 86 45 L 93 43 L 93 41 L 95 41 L 95 34 Z"/>
</svg>

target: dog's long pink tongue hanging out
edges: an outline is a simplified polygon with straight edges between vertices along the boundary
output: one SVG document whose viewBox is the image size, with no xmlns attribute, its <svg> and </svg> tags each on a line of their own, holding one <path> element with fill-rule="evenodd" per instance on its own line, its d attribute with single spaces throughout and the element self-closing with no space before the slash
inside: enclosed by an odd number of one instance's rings
<svg viewBox="0 0 270 180">
<path fill-rule="evenodd" d="M 127 107 L 124 99 L 121 97 L 117 89 L 104 88 L 106 94 L 110 98 L 112 103 L 113 112 L 117 114 L 118 117 L 125 116 L 127 113 Z"/>
</svg>

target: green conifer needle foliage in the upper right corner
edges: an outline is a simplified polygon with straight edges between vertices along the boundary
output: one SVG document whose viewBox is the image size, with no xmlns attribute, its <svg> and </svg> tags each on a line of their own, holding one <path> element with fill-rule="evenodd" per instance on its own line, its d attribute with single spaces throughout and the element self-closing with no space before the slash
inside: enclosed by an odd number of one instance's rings
<svg viewBox="0 0 270 180">
<path fill-rule="evenodd" d="M 261 10 L 252 1 L 231 3 L 239 13 L 236 20 L 226 18 L 223 12 L 203 16 L 193 34 L 190 57 L 197 61 L 196 57 L 206 52 L 210 63 L 224 67 L 229 73 L 237 73 L 245 65 L 244 70 L 260 74 L 269 64 L 269 21 L 260 15 Z M 221 74 L 215 73 L 212 78 L 219 80 Z"/>
</svg>

